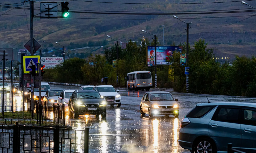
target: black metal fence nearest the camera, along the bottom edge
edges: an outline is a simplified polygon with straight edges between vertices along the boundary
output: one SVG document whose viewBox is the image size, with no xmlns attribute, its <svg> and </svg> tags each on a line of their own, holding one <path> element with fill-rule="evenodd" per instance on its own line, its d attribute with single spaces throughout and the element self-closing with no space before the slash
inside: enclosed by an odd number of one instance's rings
<svg viewBox="0 0 256 153">
<path fill-rule="evenodd" d="M 88 153 L 89 128 L 0 125 L 0 153 Z"/>
</svg>

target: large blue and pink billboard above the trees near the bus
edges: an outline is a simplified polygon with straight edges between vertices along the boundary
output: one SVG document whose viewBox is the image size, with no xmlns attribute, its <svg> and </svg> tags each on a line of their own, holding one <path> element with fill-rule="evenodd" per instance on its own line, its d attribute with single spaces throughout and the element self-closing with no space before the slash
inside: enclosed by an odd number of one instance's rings
<svg viewBox="0 0 256 153">
<path fill-rule="evenodd" d="M 182 46 L 157 46 L 156 47 L 156 64 L 157 65 L 171 65 L 169 56 L 174 52 L 182 52 Z M 147 66 L 155 65 L 155 47 L 147 46 Z"/>
</svg>

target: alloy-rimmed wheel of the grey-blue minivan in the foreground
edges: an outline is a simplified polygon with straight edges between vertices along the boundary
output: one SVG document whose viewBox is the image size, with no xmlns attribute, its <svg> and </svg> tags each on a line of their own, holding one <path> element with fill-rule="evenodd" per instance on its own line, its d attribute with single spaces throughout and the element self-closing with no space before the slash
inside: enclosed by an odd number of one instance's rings
<svg viewBox="0 0 256 153">
<path fill-rule="evenodd" d="M 196 141 L 194 146 L 195 153 L 208 152 L 208 153 L 216 153 L 215 143 L 207 138 L 202 138 Z"/>
</svg>

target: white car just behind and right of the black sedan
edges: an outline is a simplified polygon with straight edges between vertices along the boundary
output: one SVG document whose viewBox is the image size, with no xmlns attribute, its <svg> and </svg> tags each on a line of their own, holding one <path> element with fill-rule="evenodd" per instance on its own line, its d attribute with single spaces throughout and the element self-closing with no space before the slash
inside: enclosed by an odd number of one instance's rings
<svg viewBox="0 0 256 153">
<path fill-rule="evenodd" d="M 100 93 L 100 95 L 105 96 L 104 100 L 106 100 L 107 104 L 110 104 L 114 106 L 114 104 L 117 105 L 117 107 L 121 107 L 121 95 L 118 94 L 119 90 L 116 90 L 111 85 L 101 85 L 101 86 L 95 86 L 93 90 L 96 90 Z"/>
</svg>

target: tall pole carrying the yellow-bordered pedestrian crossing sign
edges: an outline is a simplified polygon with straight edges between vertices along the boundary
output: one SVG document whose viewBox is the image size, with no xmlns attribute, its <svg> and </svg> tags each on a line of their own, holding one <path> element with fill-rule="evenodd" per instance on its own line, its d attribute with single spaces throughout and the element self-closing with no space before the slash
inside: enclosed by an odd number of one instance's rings
<svg viewBox="0 0 256 153">
<path fill-rule="evenodd" d="M 34 55 L 34 35 L 33 35 L 33 17 L 34 17 L 34 1 L 29 1 L 30 6 L 30 53 Z M 35 101 L 34 101 L 34 76 L 31 75 L 31 109 L 34 111 Z"/>
</svg>

